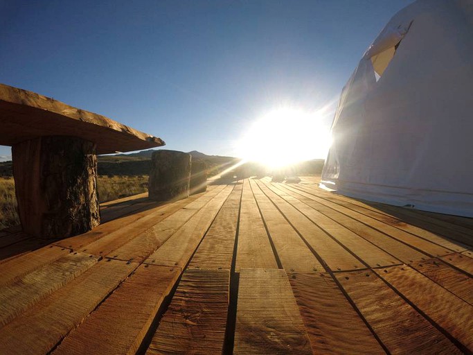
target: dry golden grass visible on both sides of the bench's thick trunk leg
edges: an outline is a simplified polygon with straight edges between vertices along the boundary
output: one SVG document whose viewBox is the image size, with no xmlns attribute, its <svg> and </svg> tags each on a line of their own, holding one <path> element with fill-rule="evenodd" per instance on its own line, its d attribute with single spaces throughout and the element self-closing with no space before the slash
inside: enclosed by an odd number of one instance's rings
<svg viewBox="0 0 473 355">
<path fill-rule="evenodd" d="M 136 195 L 148 191 L 148 175 L 99 176 L 97 189 L 100 202 Z M 19 225 L 15 181 L 0 178 L 0 230 L 13 225 Z"/>
</svg>

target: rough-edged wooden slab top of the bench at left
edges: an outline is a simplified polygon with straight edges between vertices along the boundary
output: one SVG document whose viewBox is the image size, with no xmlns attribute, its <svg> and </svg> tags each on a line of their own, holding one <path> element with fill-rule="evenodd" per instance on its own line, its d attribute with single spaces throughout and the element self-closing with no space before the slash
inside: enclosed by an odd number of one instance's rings
<svg viewBox="0 0 473 355">
<path fill-rule="evenodd" d="M 100 114 L 0 84 L 0 145 L 42 136 L 73 136 L 97 144 L 97 154 L 163 146 L 163 140 Z"/>
</svg>

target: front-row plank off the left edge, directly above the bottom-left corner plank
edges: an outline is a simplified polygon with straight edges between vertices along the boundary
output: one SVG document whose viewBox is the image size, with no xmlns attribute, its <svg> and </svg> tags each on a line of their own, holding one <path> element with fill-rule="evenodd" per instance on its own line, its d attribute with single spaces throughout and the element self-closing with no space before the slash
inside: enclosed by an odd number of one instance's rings
<svg viewBox="0 0 473 355">
<path fill-rule="evenodd" d="M 89 254 L 71 253 L 0 288 L 0 326 L 39 300 L 78 277 L 98 261 Z"/>
</svg>

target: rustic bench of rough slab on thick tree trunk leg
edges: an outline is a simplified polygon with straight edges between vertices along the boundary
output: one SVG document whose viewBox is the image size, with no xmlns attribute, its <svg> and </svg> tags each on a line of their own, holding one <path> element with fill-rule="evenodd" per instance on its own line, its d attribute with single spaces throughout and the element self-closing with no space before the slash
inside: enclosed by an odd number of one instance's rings
<svg viewBox="0 0 473 355">
<path fill-rule="evenodd" d="M 163 146 L 100 114 L 0 84 L 0 145 L 12 146 L 24 232 L 64 238 L 100 223 L 97 154 Z"/>
</svg>

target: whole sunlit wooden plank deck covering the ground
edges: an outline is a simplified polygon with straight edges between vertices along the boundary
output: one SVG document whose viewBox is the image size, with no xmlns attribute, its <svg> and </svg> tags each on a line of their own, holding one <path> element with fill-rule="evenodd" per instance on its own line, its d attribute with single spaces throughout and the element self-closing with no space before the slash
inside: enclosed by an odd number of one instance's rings
<svg viewBox="0 0 473 355">
<path fill-rule="evenodd" d="M 269 178 L 0 232 L 1 354 L 473 352 L 473 219 Z"/>
</svg>

